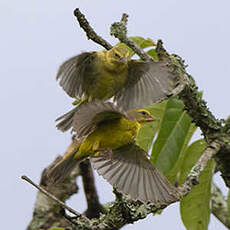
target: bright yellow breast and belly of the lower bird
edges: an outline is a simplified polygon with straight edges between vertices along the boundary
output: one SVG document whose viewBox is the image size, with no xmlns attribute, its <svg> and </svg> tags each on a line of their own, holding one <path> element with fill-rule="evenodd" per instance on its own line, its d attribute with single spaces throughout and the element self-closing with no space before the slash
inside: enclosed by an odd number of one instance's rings
<svg viewBox="0 0 230 230">
<path fill-rule="evenodd" d="M 120 148 L 135 140 L 139 128 L 138 122 L 125 118 L 102 124 L 83 141 L 78 154 L 92 155 L 103 149 Z"/>
</svg>

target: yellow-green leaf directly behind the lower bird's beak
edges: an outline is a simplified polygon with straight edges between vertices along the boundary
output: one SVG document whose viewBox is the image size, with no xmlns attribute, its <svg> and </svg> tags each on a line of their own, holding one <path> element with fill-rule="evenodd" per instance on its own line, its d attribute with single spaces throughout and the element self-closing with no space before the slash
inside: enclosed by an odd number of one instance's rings
<svg viewBox="0 0 230 230">
<path fill-rule="evenodd" d="M 156 119 L 155 122 L 150 122 L 144 124 L 137 136 L 137 144 L 143 148 L 146 152 L 149 151 L 149 149 L 152 146 L 153 143 L 153 138 L 159 129 L 160 122 L 162 120 L 164 111 L 165 111 L 165 106 L 167 104 L 167 101 L 163 101 L 161 103 L 157 104 L 152 104 L 148 107 L 145 107 Z"/>
</svg>

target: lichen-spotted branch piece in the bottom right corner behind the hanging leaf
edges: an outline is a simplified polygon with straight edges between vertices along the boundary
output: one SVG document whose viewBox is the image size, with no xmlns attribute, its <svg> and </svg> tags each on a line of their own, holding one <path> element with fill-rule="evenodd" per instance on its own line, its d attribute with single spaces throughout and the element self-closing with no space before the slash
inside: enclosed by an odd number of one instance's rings
<svg viewBox="0 0 230 230">
<path fill-rule="evenodd" d="M 228 204 L 222 192 L 215 184 L 212 184 L 211 202 L 212 214 L 230 229 Z"/>
</svg>

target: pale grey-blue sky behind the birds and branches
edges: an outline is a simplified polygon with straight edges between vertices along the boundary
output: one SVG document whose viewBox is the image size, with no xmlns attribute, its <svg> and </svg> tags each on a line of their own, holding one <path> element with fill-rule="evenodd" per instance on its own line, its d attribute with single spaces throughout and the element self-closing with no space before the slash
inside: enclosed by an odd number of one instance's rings
<svg viewBox="0 0 230 230">
<path fill-rule="evenodd" d="M 1 112 L 1 228 L 25 229 L 31 219 L 36 190 L 20 180 L 23 174 L 39 182 L 40 172 L 70 142 L 69 133 L 56 130 L 54 120 L 68 111 L 72 100 L 55 81 L 58 66 L 81 51 L 101 49 L 88 41 L 73 16 L 79 7 L 91 25 L 115 44 L 109 26 L 126 12 L 128 33 L 154 40 L 186 60 L 211 111 L 225 118 L 229 111 L 229 0 L 161 1 L 8 1 L 0 0 Z M 218 183 L 224 188 L 221 180 Z M 80 195 L 69 204 L 85 209 Z M 111 186 L 97 176 L 100 200 L 113 199 Z M 162 215 L 125 230 L 183 230 L 178 204 Z M 213 216 L 210 230 L 225 227 Z"/>
</svg>

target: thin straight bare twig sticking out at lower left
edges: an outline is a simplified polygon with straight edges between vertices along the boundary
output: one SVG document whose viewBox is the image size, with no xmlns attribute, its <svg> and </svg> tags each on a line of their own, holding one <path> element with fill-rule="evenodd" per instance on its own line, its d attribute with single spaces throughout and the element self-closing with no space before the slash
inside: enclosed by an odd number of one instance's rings
<svg viewBox="0 0 230 230">
<path fill-rule="evenodd" d="M 77 211 L 75 211 L 74 209 L 70 208 L 69 206 L 67 206 L 65 203 L 63 203 L 61 200 L 59 200 L 57 197 L 55 197 L 54 195 L 52 195 L 51 193 L 49 193 L 47 190 L 45 190 L 44 188 L 42 188 L 41 186 L 35 184 L 30 178 L 28 178 L 27 176 L 22 176 L 21 177 L 23 180 L 27 181 L 28 183 L 30 183 L 31 185 L 33 185 L 35 188 L 37 188 L 40 192 L 44 193 L 46 196 L 48 196 L 50 199 L 52 199 L 53 201 L 57 202 L 58 204 L 60 204 L 63 208 L 65 208 L 66 210 L 68 210 L 69 212 L 71 212 L 72 214 L 74 214 L 76 217 L 82 217 L 85 220 L 89 221 L 88 218 L 86 218 L 85 216 L 81 215 L 80 213 L 78 213 Z"/>
</svg>

